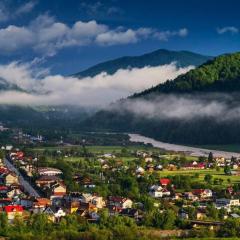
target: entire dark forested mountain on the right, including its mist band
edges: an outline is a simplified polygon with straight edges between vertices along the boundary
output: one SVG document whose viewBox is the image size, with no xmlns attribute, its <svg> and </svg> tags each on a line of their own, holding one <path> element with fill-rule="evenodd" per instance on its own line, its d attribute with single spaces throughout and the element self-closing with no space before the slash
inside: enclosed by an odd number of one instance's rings
<svg viewBox="0 0 240 240">
<path fill-rule="evenodd" d="M 137 132 L 181 144 L 240 143 L 239 93 L 240 53 L 222 55 L 172 81 L 118 101 L 85 121 L 85 127 L 100 131 Z M 184 99 L 186 105 L 180 106 L 183 109 L 175 109 L 175 117 L 162 117 L 166 114 L 171 116 L 169 105 L 172 104 L 174 108 L 174 104 L 178 104 L 181 99 Z M 136 101 L 138 105 L 132 111 L 129 106 L 135 106 L 131 104 Z M 143 106 L 142 101 L 148 104 Z M 155 109 L 151 112 L 149 103 L 154 101 Z M 168 104 L 167 108 L 163 107 L 164 101 Z M 187 109 L 189 101 L 195 104 L 190 106 L 190 110 Z M 204 109 L 204 106 L 207 108 Z M 141 112 L 141 107 L 150 113 L 136 115 L 136 111 Z M 158 107 L 159 117 L 151 117 Z M 198 114 L 195 108 L 198 111 L 204 109 L 204 115 Z M 190 111 L 190 117 L 184 118 L 185 110 L 188 113 Z M 183 116 L 179 117 L 181 114 Z"/>
</svg>

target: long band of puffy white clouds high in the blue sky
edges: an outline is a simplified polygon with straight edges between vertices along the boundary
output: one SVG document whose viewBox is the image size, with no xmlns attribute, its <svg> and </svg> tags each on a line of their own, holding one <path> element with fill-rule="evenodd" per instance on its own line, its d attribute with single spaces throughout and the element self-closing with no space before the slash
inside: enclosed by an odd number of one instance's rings
<svg viewBox="0 0 240 240">
<path fill-rule="evenodd" d="M 45 56 L 52 56 L 60 49 L 72 46 L 130 44 L 147 38 L 166 41 L 170 37 L 186 35 L 185 28 L 166 32 L 152 28 L 110 28 L 95 20 L 77 21 L 69 26 L 45 14 L 27 26 L 10 25 L 0 29 L 0 50 L 2 53 L 11 53 L 28 48 Z"/>
</svg>

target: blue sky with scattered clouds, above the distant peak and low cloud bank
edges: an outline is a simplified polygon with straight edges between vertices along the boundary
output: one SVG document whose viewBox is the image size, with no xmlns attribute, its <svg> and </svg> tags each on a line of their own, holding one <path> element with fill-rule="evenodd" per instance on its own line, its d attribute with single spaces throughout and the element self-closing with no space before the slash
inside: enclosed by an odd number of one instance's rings
<svg viewBox="0 0 240 240">
<path fill-rule="evenodd" d="M 159 48 L 239 51 L 238 0 L 2 0 L 0 61 L 78 72 Z"/>
</svg>

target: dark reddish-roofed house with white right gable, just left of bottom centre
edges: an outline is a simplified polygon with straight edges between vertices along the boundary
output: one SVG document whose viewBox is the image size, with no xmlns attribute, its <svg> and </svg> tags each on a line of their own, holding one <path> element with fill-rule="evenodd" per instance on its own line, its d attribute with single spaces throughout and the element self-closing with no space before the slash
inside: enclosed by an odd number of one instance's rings
<svg viewBox="0 0 240 240">
<path fill-rule="evenodd" d="M 108 207 L 114 211 L 121 211 L 124 208 L 132 208 L 132 200 L 124 197 L 110 196 L 108 198 Z"/>
</svg>

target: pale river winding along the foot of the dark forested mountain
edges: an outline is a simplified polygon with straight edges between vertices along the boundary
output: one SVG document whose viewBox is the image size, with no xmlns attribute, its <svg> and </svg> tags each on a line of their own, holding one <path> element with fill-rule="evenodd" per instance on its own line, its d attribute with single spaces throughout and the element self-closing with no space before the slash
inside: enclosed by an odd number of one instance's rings
<svg viewBox="0 0 240 240">
<path fill-rule="evenodd" d="M 152 144 L 154 147 L 169 150 L 169 151 L 176 151 L 176 152 L 186 152 L 192 156 L 208 156 L 209 152 L 212 152 L 215 157 L 225 157 L 231 158 L 233 157 L 240 157 L 240 153 L 236 152 L 226 152 L 226 151 L 218 151 L 212 149 L 204 149 L 204 148 L 197 148 L 197 147 L 189 147 L 184 145 L 178 144 L 171 144 L 157 141 L 153 138 L 145 137 L 140 134 L 128 134 L 130 137 L 131 142 L 143 142 L 145 144 Z"/>
</svg>

